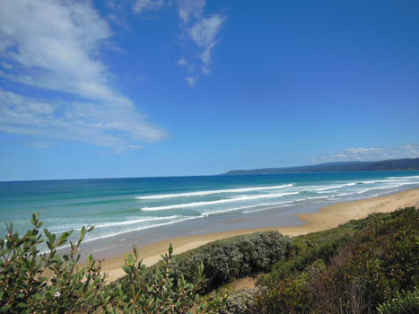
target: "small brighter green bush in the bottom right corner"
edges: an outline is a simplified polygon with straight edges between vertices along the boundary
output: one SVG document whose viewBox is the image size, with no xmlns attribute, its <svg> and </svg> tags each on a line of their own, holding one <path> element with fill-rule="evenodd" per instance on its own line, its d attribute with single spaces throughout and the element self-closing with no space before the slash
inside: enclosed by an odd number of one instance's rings
<svg viewBox="0 0 419 314">
<path fill-rule="evenodd" d="M 416 314 L 419 313 L 419 288 L 396 293 L 396 297 L 384 302 L 377 308 L 380 314 Z"/>
</svg>

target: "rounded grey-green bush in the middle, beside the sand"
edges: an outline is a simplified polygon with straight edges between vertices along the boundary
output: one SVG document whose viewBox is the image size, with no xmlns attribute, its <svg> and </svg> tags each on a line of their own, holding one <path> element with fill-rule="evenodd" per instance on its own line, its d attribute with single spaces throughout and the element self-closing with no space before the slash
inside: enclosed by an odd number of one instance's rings
<svg viewBox="0 0 419 314">
<path fill-rule="evenodd" d="M 207 292 L 232 279 L 269 270 L 288 255 L 291 247 L 292 240 L 277 231 L 218 240 L 174 257 L 174 274 L 191 280 L 194 269 L 202 263 Z"/>
</svg>

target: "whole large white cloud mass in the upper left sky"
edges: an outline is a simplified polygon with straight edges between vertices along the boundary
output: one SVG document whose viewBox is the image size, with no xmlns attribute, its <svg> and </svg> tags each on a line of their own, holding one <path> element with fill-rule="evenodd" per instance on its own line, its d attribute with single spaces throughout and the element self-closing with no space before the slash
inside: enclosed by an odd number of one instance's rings
<svg viewBox="0 0 419 314">
<path fill-rule="evenodd" d="M 1 75 L 60 92 L 64 100 L 33 100 L 0 91 L 0 130 L 86 141 L 116 152 L 138 141 L 164 137 L 164 131 L 148 123 L 132 100 L 112 88 L 112 74 L 99 58 L 111 35 L 108 23 L 89 3 L 4 2 L 0 57 L 11 67 L 3 66 Z"/>
</svg>

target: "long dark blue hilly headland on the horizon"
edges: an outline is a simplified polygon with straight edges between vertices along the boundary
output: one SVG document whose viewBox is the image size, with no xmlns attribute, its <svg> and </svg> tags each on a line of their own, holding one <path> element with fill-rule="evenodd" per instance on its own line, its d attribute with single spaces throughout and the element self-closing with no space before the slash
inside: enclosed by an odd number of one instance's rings
<svg viewBox="0 0 419 314">
<path fill-rule="evenodd" d="M 401 171 L 419 170 L 419 158 L 392 159 L 386 161 L 344 161 L 327 162 L 317 165 L 263 168 L 252 170 L 230 170 L 224 175 L 310 173 L 310 172 L 360 172 L 360 171 Z"/>
</svg>

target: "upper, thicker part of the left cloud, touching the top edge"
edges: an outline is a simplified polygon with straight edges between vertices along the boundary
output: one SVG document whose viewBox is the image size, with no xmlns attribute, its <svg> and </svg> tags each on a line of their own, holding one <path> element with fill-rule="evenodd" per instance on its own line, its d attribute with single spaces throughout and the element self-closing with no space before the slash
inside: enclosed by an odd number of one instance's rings
<svg viewBox="0 0 419 314">
<path fill-rule="evenodd" d="M 0 12 L 0 55 L 21 67 L 8 78 L 86 97 L 120 98 L 109 91 L 109 74 L 96 58 L 110 35 L 88 4 L 7 1 Z"/>
</svg>

